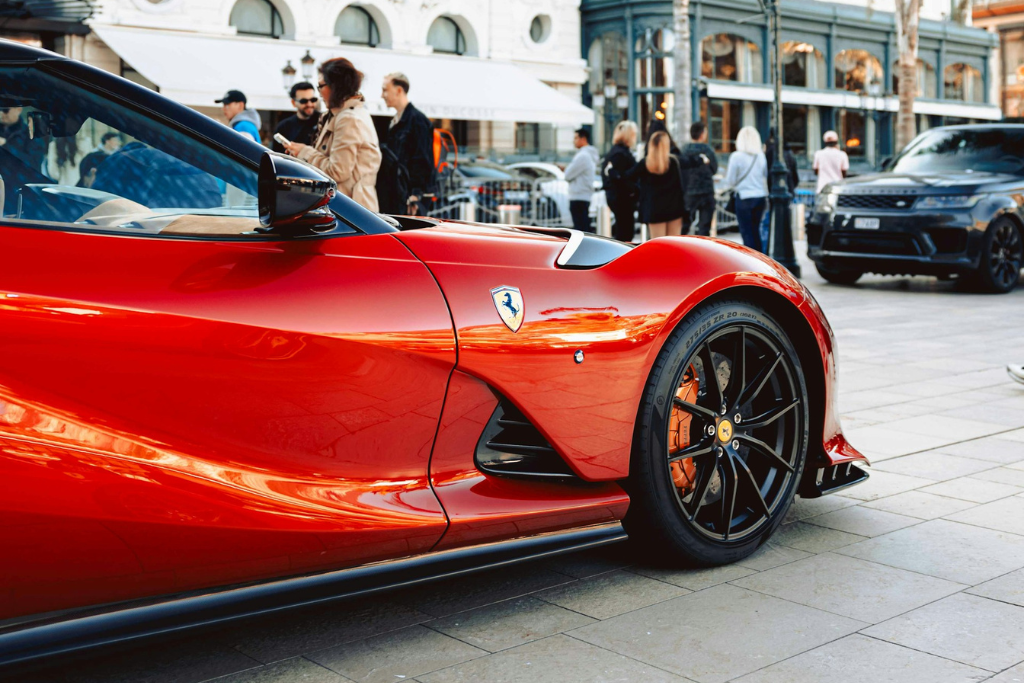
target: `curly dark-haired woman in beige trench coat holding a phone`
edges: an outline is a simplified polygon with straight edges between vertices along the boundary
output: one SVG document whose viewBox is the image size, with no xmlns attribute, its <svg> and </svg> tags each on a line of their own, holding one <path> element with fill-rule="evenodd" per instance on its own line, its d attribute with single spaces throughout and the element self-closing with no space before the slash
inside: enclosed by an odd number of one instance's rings
<svg viewBox="0 0 1024 683">
<path fill-rule="evenodd" d="M 316 141 L 312 145 L 290 142 L 285 150 L 334 178 L 342 195 L 378 211 L 381 148 L 359 92 L 362 73 L 344 57 L 328 59 L 319 71 L 318 88 L 328 113 L 321 117 Z"/>
</svg>

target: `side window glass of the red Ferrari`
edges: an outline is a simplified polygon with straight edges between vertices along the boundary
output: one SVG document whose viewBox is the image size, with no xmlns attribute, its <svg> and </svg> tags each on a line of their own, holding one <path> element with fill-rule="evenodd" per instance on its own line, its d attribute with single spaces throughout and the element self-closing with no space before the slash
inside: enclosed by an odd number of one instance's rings
<svg viewBox="0 0 1024 683">
<path fill-rule="evenodd" d="M 133 234 L 259 225 L 257 173 L 34 67 L 0 67 L 0 218 Z"/>
</svg>

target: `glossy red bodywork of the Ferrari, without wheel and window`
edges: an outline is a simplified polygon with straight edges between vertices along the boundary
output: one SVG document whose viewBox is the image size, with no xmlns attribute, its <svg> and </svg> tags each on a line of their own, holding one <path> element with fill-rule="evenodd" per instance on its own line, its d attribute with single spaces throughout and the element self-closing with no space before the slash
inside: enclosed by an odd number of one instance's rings
<svg viewBox="0 0 1024 683">
<path fill-rule="evenodd" d="M 757 301 L 801 355 L 801 495 L 864 460 L 840 429 L 828 324 L 776 263 L 701 238 L 588 268 L 559 266 L 565 249 L 453 222 L 245 242 L 0 217 L 7 656 L 38 654 L 22 627 L 76 610 L 616 526 L 652 364 L 713 297 Z M 521 291 L 517 332 L 501 286 Z M 477 467 L 499 396 L 571 481 Z"/>
</svg>

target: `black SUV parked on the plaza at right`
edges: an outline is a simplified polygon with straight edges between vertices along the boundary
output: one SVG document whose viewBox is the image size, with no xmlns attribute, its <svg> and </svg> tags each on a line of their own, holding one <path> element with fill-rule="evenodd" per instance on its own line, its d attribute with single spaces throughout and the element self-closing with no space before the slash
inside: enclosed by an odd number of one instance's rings
<svg viewBox="0 0 1024 683">
<path fill-rule="evenodd" d="M 947 126 L 919 135 L 888 165 L 835 182 L 807 222 L 821 276 L 958 275 L 1014 289 L 1024 261 L 1024 125 Z"/>
</svg>

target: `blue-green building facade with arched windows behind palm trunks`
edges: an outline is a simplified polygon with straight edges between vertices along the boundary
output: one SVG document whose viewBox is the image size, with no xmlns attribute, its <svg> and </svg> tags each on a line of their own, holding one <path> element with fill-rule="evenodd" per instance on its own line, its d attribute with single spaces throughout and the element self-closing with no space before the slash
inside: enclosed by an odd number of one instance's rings
<svg viewBox="0 0 1024 683">
<path fill-rule="evenodd" d="M 862 3 L 863 4 L 863 3 Z M 995 38 L 942 18 L 941 0 L 926 2 L 920 29 L 919 129 L 997 120 L 992 103 Z M 896 25 L 879 4 L 791 0 L 782 5 L 783 131 L 807 164 L 821 134 L 835 129 L 855 166 L 877 166 L 894 153 L 899 109 Z M 584 101 L 593 104 L 598 141 L 623 118 L 646 129 L 673 122 L 674 40 L 671 0 L 583 0 L 583 48 L 592 66 Z M 732 152 L 741 126 L 770 127 L 773 99 L 767 26 L 755 0 L 691 0 L 694 118 L 710 141 Z M 679 136 L 679 131 L 672 131 Z"/>
</svg>

